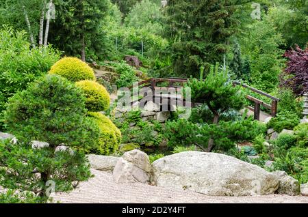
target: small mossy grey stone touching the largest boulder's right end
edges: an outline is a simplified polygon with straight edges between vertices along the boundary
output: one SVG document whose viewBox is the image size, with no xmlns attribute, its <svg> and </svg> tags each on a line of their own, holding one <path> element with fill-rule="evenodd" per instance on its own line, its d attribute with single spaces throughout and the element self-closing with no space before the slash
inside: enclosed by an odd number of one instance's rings
<svg viewBox="0 0 308 217">
<path fill-rule="evenodd" d="M 290 196 L 300 194 L 300 185 L 294 177 L 287 175 L 285 171 L 274 171 L 272 174 L 276 175 L 277 179 L 279 179 L 278 194 L 287 194 Z"/>
</svg>

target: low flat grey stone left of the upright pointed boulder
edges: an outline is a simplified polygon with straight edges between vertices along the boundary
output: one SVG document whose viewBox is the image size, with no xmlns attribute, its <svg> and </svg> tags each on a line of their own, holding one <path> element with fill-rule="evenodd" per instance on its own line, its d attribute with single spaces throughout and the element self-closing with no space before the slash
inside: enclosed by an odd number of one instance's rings
<svg viewBox="0 0 308 217">
<path fill-rule="evenodd" d="M 92 169 L 112 173 L 114 167 L 116 167 L 116 162 L 118 162 L 120 158 L 89 154 L 88 159 Z"/>
</svg>

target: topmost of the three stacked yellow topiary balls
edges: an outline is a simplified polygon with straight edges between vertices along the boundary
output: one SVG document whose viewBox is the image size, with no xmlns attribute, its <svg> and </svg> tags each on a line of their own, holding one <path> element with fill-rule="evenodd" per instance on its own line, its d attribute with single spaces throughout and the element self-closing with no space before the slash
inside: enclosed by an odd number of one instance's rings
<svg viewBox="0 0 308 217">
<path fill-rule="evenodd" d="M 57 61 L 49 71 L 50 74 L 60 75 L 69 81 L 95 81 L 94 71 L 87 63 L 75 57 L 64 57 Z"/>
</svg>

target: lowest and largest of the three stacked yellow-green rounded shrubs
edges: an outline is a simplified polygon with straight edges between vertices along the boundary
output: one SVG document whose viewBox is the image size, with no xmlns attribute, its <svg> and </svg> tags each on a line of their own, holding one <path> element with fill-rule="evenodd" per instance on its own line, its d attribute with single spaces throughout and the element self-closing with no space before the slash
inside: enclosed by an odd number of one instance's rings
<svg viewBox="0 0 308 217">
<path fill-rule="evenodd" d="M 99 140 L 97 145 L 90 150 L 94 154 L 113 154 L 121 142 L 121 132 L 112 123 L 112 121 L 101 113 L 89 112 L 88 116 L 94 119 L 95 123 L 99 126 Z"/>
</svg>

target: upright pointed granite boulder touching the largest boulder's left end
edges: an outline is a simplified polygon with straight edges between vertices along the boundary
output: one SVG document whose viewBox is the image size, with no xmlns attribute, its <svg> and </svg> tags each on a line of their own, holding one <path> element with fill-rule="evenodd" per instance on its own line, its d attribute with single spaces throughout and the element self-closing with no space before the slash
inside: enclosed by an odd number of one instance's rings
<svg viewBox="0 0 308 217">
<path fill-rule="evenodd" d="M 141 182 L 149 184 L 151 164 L 149 156 L 143 151 L 134 149 L 125 152 L 122 158 L 116 162 L 113 171 L 113 178 L 116 183 Z"/>
</svg>

